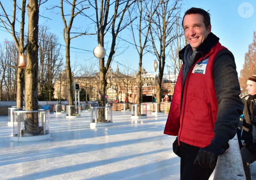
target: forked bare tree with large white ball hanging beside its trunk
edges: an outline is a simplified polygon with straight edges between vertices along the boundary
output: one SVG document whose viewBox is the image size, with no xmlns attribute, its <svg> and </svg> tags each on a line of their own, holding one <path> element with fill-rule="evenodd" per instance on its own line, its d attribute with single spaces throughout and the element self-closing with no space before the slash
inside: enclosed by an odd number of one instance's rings
<svg viewBox="0 0 256 180">
<path fill-rule="evenodd" d="M 115 46 L 117 35 L 124 30 L 129 24 L 129 19 L 126 17 L 128 8 L 136 0 L 115 0 L 110 3 L 110 0 L 100 0 L 100 8 L 98 8 L 97 0 L 94 0 L 92 5 L 96 11 L 96 26 L 98 35 L 98 44 L 104 47 L 104 39 L 106 34 L 111 34 L 112 41 L 109 50 L 109 56 L 105 64 L 105 58 L 99 60 L 100 72 L 99 72 L 99 105 L 105 106 L 105 90 L 107 85 L 106 73 L 110 67 L 113 55 L 115 53 Z M 113 12 L 113 15 L 110 15 Z M 110 32 L 109 32 L 110 30 Z M 105 111 L 99 111 L 99 122 L 105 121 Z"/>
</svg>

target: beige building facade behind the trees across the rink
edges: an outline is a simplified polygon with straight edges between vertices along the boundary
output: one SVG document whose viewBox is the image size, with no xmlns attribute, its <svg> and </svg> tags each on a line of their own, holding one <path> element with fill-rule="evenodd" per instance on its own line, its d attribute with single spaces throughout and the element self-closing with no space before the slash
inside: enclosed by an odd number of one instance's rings
<svg viewBox="0 0 256 180">
<path fill-rule="evenodd" d="M 142 68 L 142 101 L 152 102 L 154 101 L 153 92 L 156 89 L 156 82 L 158 75 L 148 73 Z M 118 102 L 130 102 L 136 103 L 138 95 L 138 82 L 137 73 L 134 75 L 125 75 L 120 73 L 117 66 L 116 71 L 109 68 L 107 73 L 107 86 L 105 95 L 107 95 L 107 101 Z M 99 90 L 99 77 L 98 72 L 94 75 L 74 77 L 73 82 L 79 84 L 80 101 L 98 101 Z M 63 78 L 62 81 L 56 82 L 54 86 L 54 98 L 67 100 L 67 89 L 65 88 L 66 82 Z M 175 86 L 175 78 L 166 79 L 162 81 L 162 97 L 165 95 L 171 97 Z M 87 96 L 86 96 L 87 94 Z"/>
</svg>

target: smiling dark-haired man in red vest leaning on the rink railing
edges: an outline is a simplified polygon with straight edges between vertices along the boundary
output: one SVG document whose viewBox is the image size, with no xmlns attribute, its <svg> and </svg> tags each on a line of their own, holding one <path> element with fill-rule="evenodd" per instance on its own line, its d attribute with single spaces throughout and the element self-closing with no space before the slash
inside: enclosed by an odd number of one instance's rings
<svg viewBox="0 0 256 180">
<path fill-rule="evenodd" d="M 182 20 L 188 45 L 164 133 L 177 136 L 181 180 L 208 180 L 236 134 L 243 104 L 233 54 L 211 33 L 210 14 L 190 8 Z"/>
</svg>

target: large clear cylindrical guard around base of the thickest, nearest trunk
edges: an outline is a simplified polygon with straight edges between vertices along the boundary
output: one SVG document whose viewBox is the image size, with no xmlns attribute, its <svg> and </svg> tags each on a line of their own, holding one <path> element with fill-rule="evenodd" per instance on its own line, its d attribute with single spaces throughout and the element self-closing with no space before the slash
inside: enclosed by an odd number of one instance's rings
<svg viewBox="0 0 256 180">
<path fill-rule="evenodd" d="M 50 138 L 49 110 L 13 111 L 13 140 L 18 142 L 38 141 Z"/>
</svg>

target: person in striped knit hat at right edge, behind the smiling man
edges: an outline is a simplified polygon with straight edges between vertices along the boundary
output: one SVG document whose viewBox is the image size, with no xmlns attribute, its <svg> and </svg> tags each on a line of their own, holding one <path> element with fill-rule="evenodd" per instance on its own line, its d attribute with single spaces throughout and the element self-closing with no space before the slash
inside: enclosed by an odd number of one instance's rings
<svg viewBox="0 0 256 180">
<path fill-rule="evenodd" d="M 246 89 L 248 95 L 242 97 L 245 108 L 241 137 L 244 142 L 241 148 L 241 157 L 246 180 L 251 180 L 249 165 L 256 161 L 256 75 L 249 77 Z"/>
</svg>

